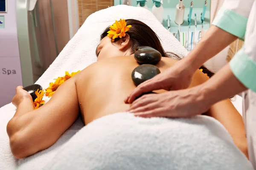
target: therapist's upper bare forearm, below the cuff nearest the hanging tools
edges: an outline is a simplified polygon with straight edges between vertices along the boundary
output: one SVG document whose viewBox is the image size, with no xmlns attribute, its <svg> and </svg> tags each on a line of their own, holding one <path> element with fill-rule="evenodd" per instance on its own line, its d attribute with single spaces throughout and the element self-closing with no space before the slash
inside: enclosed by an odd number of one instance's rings
<svg viewBox="0 0 256 170">
<path fill-rule="evenodd" d="M 192 69 L 196 71 L 204 62 L 214 57 L 236 39 L 237 37 L 233 34 L 212 25 L 198 45 L 184 58 L 184 62 L 191 65 Z"/>
</svg>

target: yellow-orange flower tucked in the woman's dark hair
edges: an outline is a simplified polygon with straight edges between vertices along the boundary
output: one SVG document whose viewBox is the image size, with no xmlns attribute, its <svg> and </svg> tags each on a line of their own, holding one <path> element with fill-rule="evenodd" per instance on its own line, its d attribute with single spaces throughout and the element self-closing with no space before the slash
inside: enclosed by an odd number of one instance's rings
<svg viewBox="0 0 256 170">
<path fill-rule="evenodd" d="M 117 21 L 113 24 L 113 26 L 110 26 L 110 31 L 108 31 L 108 37 L 112 38 L 112 42 L 115 40 L 115 38 L 119 37 L 125 37 L 125 32 L 129 31 L 131 28 L 131 25 L 126 26 L 126 22 L 124 19 L 120 19 L 120 21 Z"/>
</svg>

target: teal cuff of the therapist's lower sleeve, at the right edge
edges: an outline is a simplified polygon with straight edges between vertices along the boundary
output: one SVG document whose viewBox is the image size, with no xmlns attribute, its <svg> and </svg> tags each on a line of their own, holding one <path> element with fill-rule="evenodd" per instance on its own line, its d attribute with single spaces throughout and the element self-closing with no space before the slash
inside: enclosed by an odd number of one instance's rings
<svg viewBox="0 0 256 170">
<path fill-rule="evenodd" d="M 241 49 L 230 61 L 233 74 L 241 83 L 256 92 L 256 62 Z"/>
</svg>

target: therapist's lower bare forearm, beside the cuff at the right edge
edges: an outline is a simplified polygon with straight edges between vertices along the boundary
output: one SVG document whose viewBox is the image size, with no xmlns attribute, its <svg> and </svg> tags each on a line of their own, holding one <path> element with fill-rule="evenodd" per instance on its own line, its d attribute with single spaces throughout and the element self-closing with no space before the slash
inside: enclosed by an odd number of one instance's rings
<svg viewBox="0 0 256 170">
<path fill-rule="evenodd" d="M 225 65 L 217 74 L 199 87 L 204 101 L 209 105 L 239 94 L 247 88 L 234 76 L 230 65 Z"/>
</svg>

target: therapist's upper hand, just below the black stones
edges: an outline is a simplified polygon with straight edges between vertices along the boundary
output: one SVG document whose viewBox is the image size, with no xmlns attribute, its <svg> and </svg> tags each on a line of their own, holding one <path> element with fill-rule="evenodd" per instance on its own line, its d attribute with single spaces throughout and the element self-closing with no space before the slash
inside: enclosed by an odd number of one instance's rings
<svg viewBox="0 0 256 170">
<path fill-rule="evenodd" d="M 132 103 L 137 96 L 149 91 L 164 89 L 167 91 L 180 90 L 189 87 L 194 71 L 190 66 L 183 64 L 182 61 L 176 62 L 175 65 L 149 79 L 135 88 L 129 96 L 126 97 L 125 103 Z"/>
</svg>

